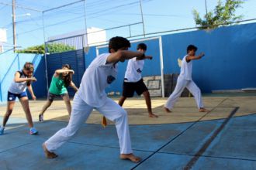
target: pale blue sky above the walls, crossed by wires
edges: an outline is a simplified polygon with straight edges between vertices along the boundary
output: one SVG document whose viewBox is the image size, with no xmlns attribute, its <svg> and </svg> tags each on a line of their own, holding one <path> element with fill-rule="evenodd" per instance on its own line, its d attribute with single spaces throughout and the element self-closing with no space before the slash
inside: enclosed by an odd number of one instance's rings
<svg viewBox="0 0 256 170">
<path fill-rule="evenodd" d="M 47 11 L 71 2 L 77 3 Z M 17 46 L 40 45 L 50 36 L 86 27 L 123 26 L 107 30 L 108 39 L 191 28 L 195 27 L 192 9 L 195 8 L 202 17 L 206 14 L 206 6 L 208 12 L 213 11 L 216 3 L 217 0 L 141 0 L 142 19 L 140 0 L 86 0 L 85 3 L 78 0 L 16 0 Z M 0 28 L 7 29 L 5 46 L 12 46 L 12 6 L 8 4 L 12 4 L 12 0 L 0 0 Z M 245 0 L 236 14 L 243 15 L 243 19 L 255 19 L 255 8 L 255 0 Z"/>
</svg>

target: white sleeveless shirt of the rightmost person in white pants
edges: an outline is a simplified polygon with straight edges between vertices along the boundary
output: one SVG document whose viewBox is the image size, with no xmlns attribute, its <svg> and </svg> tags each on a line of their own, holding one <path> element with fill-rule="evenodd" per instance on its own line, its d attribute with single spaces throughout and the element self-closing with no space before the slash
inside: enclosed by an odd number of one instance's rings
<svg viewBox="0 0 256 170">
<path fill-rule="evenodd" d="M 188 55 L 186 55 L 188 56 Z M 185 80 L 192 80 L 192 60 L 188 63 L 185 57 L 182 59 L 181 73 L 179 76 Z"/>
</svg>

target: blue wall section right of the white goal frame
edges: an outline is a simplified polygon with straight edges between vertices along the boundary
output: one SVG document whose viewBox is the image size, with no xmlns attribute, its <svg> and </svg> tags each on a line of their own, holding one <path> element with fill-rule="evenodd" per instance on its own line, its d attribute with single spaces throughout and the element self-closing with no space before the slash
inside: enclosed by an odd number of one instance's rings
<svg viewBox="0 0 256 170">
<path fill-rule="evenodd" d="M 162 36 L 164 73 L 179 73 L 177 59 L 189 44 L 204 52 L 193 61 L 192 77 L 203 93 L 256 87 L 256 24 L 228 26 L 209 32 L 194 31 Z"/>
</svg>

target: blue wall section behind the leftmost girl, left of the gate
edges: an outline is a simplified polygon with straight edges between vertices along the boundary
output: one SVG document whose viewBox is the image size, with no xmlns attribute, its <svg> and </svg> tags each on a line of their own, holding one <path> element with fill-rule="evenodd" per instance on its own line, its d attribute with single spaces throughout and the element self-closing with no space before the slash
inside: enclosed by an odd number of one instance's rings
<svg viewBox="0 0 256 170">
<path fill-rule="evenodd" d="M 37 81 L 33 83 L 32 86 L 36 97 L 46 97 L 46 76 L 43 56 L 9 52 L 0 55 L 0 60 L 0 101 L 7 100 L 7 92 L 9 85 L 14 78 L 14 74 L 17 70 L 22 70 L 22 66 L 26 62 L 32 62 L 35 66 L 34 76 L 36 77 Z"/>
</svg>

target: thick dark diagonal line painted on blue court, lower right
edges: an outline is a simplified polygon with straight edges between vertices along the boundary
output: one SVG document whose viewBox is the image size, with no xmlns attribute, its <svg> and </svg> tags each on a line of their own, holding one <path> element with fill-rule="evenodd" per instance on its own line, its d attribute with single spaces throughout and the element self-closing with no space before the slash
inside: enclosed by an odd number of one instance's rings
<svg viewBox="0 0 256 170">
<path fill-rule="evenodd" d="M 226 126 L 226 124 L 230 121 L 230 118 L 234 116 L 234 114 L 237 112 L 239 107 L 235 107 L 234 110 L 230 113 L 229 117 L 226 118 L 225 121 L 220 125 L 220 127 L 213 133 L 213 135 L 205 142 L 204 145 L 202 145 L 202 148 L 199 149 L 199 151 L 194 155 L 194 157 L 188 162 L 187 165 L 185 165 L 185 170 L 191 169 L 193 165 L 195 165 L 195 162 L 199 159 L 199 157 L 206 151 L 206 149 L 209 147 L 209 145 L 212 143 L 212 141 L 216 138 L 218 134 L 220 134 L 220 131 L 223 130 L 223 128 Z"/>
</svg>

